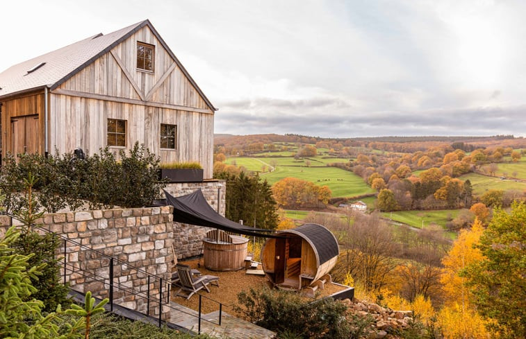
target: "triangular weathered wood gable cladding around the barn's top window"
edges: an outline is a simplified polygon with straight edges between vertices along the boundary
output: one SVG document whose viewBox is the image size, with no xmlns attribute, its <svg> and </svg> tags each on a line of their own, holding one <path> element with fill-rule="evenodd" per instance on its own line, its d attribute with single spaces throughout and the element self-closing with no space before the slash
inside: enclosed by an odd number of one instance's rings
<svg viewBox="0 0 526 339">
<path fill-rule="evenodd" d="M 154 73 L 136 69 L 137 42 L 156 46 Z M 147 101 L 210 110 L 148 26 L 79 71 L 60 88 L 120 98 L 142 99 L 142 96 Z"/>
</svg>

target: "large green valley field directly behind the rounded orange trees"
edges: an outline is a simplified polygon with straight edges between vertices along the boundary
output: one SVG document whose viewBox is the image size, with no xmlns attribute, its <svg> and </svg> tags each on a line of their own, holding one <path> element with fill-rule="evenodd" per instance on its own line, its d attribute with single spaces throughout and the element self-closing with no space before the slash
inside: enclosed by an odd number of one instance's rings
<svg viewBox="0 0 526 339">
<path fill-rule="evenodd" d="M 367 186 L 361 177 L 336 167 L 278 166 L 274 172 L 265 173 L 261 177 L 269 184 L 274 184 L 285 177 L 297 177 L 320 186 L 327 185 L 333 197 L 352 197 L 375 193 L 375 190 Z"/>
</svg>

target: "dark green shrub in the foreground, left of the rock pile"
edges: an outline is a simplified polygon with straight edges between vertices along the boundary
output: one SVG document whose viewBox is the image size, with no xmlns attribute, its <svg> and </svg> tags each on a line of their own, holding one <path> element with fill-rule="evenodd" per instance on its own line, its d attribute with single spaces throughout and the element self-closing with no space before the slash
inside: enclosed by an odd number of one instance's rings
<svg viewBox="0 0 526 339">
<path fill-rule="evenodd" d="M 238 301 L 243 307 L 236 311 L 244 318 L 286 338 L 360 338 L 370 325 L 363 318 L 347 321 L 347 306 L 331 298 L 306 302 L 296 293 L 251 288 L 239 293 Z"/>
</svg>

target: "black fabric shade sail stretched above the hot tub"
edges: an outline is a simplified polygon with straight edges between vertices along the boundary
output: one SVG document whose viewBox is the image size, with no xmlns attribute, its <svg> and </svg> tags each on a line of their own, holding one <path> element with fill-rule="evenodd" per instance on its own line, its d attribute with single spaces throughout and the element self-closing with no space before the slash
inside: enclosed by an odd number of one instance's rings
<svg viewBox="0 0 526 339">
<path fill-rule="evenodd" d="M 273 232 L 272 230 L 249 227 L 224 218 L 224 216 L 217 213 L 217 211 L 208 205 L 201 189 L 177 198 L 170 195 L 167 191 L 163 191 L 165 192 L 167 203 L 174 207 L 174 221 L 177 223 L 213 227 L 246 236 L 281 238 L 281 236 L 261 233 Z"/>
</svg>

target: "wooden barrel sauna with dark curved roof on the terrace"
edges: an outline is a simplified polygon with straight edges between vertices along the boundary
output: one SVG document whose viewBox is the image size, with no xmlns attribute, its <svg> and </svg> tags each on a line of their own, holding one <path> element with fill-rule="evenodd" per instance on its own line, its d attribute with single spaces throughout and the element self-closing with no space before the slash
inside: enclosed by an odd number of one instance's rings
<svg viewBox="0 0 526 339">
<path fill-rule="evenodd" d="M 326 227 L 304 224 L 276 235 L 281 238 L 268 239 L 261 250 L 263 271 L 274 286 L 313 286 L 336 265 L 338 241 Z"/>
</svg>

